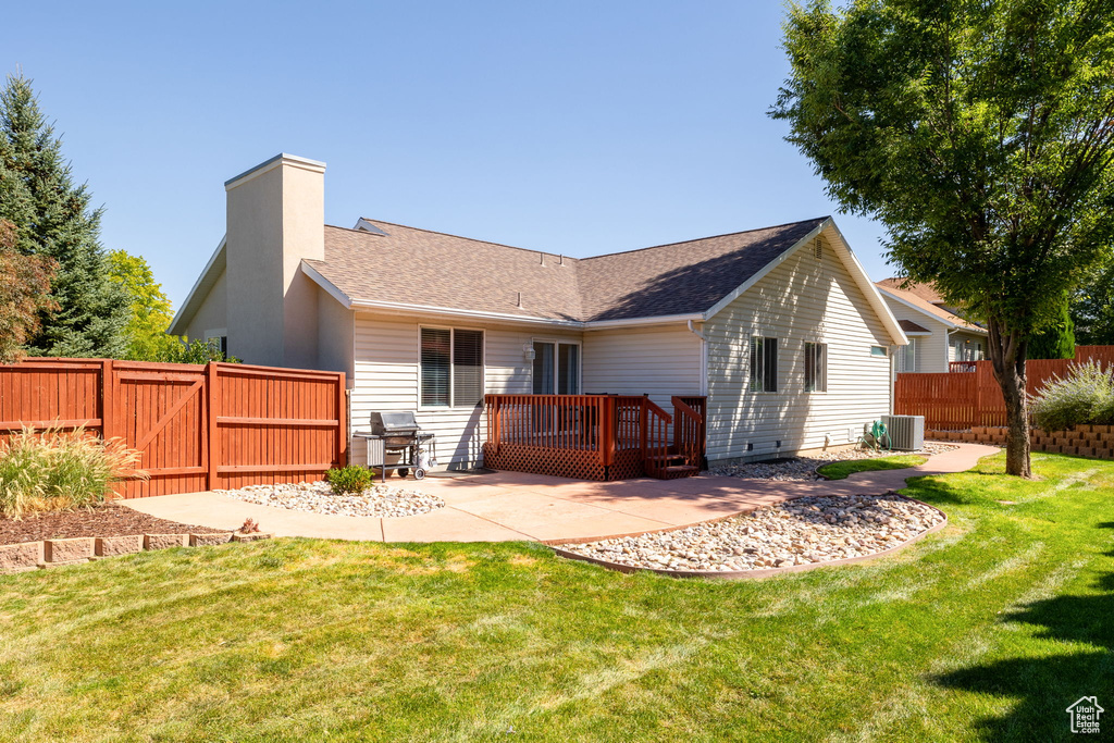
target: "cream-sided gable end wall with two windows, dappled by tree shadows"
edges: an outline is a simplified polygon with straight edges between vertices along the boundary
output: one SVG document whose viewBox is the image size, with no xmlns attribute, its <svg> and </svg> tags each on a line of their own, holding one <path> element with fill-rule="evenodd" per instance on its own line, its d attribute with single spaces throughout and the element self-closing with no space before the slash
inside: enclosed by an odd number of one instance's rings
<svg viewBox="0 0 1114 743">
<path fill-rule="evenodd" d="M 890 359 L 871 346 L 891 340 L 831 247 L 819 261 L 814 248 L 799 250 L 704 324 L 710 460 L 820 448 L 824 434 L 849 443 L 889 411 Z M 747 389 L 755 335 L 778 339 L 778 394 Z M 807 342 L 828 346 L 825 394 L 804 392 Z"/>
</svg>

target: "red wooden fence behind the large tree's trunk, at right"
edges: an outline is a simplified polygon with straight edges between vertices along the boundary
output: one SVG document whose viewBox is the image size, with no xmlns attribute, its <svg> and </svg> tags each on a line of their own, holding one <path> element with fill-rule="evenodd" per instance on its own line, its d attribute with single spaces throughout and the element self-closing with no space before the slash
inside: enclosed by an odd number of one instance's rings
<svg viewBox="0 0 1114 743">
<path fill-rule="evenodd" d="M 1025 364 L 1026 388 L 1036 394 L 1053 377 L 1065 377 L 1073 363 L 1095 360 L 1114 365 L 1114 345 L 1081 345 L 1075 359 L 1033 360 Z M 960 430 L 976 426 L 1006 426 L 1006 401 L 989 361 L 965 362 L 971 372 L 902 373 L 893 389 L 893 412 L 924 416 L 929 429 Z"/>
</svg>

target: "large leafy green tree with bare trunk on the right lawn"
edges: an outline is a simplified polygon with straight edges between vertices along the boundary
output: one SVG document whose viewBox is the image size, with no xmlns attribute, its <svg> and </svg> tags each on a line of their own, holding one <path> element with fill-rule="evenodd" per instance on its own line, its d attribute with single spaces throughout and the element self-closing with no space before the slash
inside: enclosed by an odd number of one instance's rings
<svg viewBox="0 0 1114 743">
<path fill-rule="evenodd" d="M 784 31 L 771 115 L 903 274 L 986 321 L 1030 477 L 1028 339 L 1114 244 L 1114 0 L 814 0 Z"/>
</svg>

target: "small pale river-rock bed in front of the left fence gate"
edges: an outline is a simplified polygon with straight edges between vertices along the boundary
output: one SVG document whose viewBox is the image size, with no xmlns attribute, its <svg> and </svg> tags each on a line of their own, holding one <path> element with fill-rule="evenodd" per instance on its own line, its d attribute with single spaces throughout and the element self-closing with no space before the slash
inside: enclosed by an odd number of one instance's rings
<svg viewBox="0 0 1114 743">
<path fill-rule="evenodd" d="M 229 498 L 260 506 L 287 508 L 330 516 L 372 516 L 398 518 L 417 516 L 444 508 L 444 501 L 417 490 L 389 485 L 373 485 L 362 493 L 336 495 L 325 481 L 252 485 L 240 490 L 214 490 Z"/>
</svg>

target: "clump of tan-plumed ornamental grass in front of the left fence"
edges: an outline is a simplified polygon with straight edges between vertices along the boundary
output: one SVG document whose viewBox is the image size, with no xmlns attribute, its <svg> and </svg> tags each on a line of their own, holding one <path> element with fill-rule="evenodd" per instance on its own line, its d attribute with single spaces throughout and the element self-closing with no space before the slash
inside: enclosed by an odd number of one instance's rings
<svg viewBox="0 0 1114 743">
<path fill-rule="evenodd" d="M 119 439 L 101 441 L 84 428 L 25 428 L 0 443 L 0 514 L 67 510 L 105 501 L 113 483 L 146 478 L 139 452 Z"/>
</svg>

